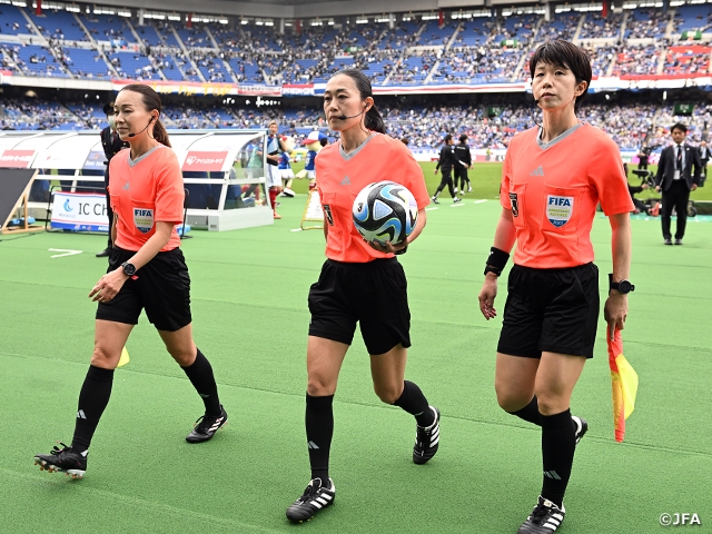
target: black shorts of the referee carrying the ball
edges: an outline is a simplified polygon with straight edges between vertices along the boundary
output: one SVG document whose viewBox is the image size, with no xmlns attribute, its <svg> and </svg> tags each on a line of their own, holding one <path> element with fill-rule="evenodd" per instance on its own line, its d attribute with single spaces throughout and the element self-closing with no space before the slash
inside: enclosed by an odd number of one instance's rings
<svg viewBox="0 0 712 534">
<path fill-rule="evenodd" d="M 309 335 L 350 345 L 359 323 L 368 354 L 411 346 L 407 281 L 396 258 L 367 264 L 327 259 L 309 289 Z"/>
</svg>

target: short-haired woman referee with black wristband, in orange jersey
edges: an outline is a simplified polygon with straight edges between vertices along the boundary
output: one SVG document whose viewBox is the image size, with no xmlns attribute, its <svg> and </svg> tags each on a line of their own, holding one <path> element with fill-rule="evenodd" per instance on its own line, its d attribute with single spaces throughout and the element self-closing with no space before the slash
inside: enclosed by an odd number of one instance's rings
<svg viewBox="0 0 712 534">
<path fill-rule="evenodd" d="M 542 428 L 543 486 L 517 531 L 551 534 L 564 520 L 564 493 L 574 451 L 587 429 L 572 416 L 571 394 L 593 346 L 599 320 L 599 269 L 591 227 L 601 202 L 612 229 L 613 273 L 605 301 L 607 335 L 627 315 L 633 209 L 621 155 L 603 131 L 581 122 L 576 106 L 591 83 L 584 50 L 548 41 L 530 60 L 542 126 L 516 135 L 502 169 L 502 215 L 487 258 L 479 309 L 496 316 L 494 299 L 516 241 L 497 345 L 500 406 Z"/>
</svg>

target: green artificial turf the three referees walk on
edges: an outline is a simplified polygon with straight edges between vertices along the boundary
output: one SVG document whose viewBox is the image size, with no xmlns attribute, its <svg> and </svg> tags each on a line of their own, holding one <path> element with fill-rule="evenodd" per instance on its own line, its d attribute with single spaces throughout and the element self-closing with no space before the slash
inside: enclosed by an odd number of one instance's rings
<svg viewBox="0 0 712 534">
<path fill-rule="evenodd" d="M 81 481 L 40 472 L 32 456 L 71 439 L 93 340 L 87 295 L 106 269 L 93 255 L 106 239 L 0 236 L 0 532 L 516 532 L 536 502 L 542 469 L 538 428 L 497 406 L 501 322 L 485 322 L 477 308 L 501 209 L 495 170 L 475 167 L 475 191 L 461 206 L 432 206 L 424 234 L 400 258 L 413 314 L 406 376 L 443 413 L 437 456 L 412 463 L 413 418 L 374 395 L 357 336 L 334 405 L 337 498 L 299 526 L 284 513 L 309 478 L 307 291 L 324 260 L 320 230 L 291 231 L 305 195 L 281 199 L 284 218 L 274 226 L 192 231 L 182 243 L 195 338 L 212 363 L 227 426 L 209 443 L 185 442 L 201 402 L 141 318 Z M 432 185 L 432 171 L 426 176 Z M 572 400 L 591 429 L 576 452 L 562 534 L 664 532 L 662 513 L 696 513 L 702 526 L 689 528 L 711 532 L 709 228 L 691 222 L 684 246 L 665 247 L 660 219 L 632 221 L 636 290 L 623 338 L 640 376 L 636 408 L 625 442 L 615 443 L 601 319 L 595 357 Z M 611 231 L 602 216 L 592 239 L 603 287 Z M 82 254 L 51 258 L 58 253 L 50 248 Z M 502 283 L 500 309 L 505 294 Z"/>
</svg>

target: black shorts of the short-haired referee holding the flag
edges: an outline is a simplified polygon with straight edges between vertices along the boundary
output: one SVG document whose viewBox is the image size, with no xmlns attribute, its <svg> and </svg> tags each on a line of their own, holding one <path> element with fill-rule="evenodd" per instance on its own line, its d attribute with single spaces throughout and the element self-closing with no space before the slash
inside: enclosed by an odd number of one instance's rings
<svg viewBox="0 0 712 534">
<path fill-rule="evenodd" d="M 599 325 L 599 268 L 515 265 L 507 283 L 497 352 L 541 358 L 543 352 L 593 357 Z"/>
</svg>

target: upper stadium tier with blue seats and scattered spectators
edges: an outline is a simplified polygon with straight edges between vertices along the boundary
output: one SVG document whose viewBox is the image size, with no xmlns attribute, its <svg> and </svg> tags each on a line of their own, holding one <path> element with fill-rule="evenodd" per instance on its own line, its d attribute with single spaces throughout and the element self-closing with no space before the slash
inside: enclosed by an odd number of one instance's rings
<svg viewBox="0 0 712 534">
<path fill-rule="evenodd" d="M 175 13 L 139 20 L 106 14 L 107 8 L 79 13 L 73 6 L 38 14 L 0 3 L 2 69 L 48 78 L 284 85 L 324 82 L 354 66 L 375 86 L 523 82 L 532 50 L 563 38 L 593 52 L 596 77 L 710 73 L 709 3 L 605 14 L 563 4 L 551 17 L 541 7 L 492 8 L 333 26 L 315 19 L 298 29 L 283 24 L 281 32 L 278 19 L 189 23 Z"/>
</svg>

